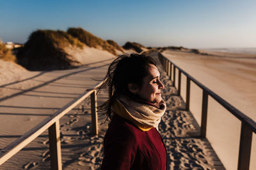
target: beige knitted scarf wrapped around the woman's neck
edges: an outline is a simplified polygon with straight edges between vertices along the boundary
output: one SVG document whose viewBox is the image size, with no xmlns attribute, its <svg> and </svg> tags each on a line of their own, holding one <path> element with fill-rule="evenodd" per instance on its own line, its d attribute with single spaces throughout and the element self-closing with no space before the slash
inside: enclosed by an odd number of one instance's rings
<svg viewBox="0 0 256 170">
<path fill-rule="evenodd" d="M 121 96 L 116 99 L 111 109 L 113 113 L 129 120 L 141 131 L 149 131 L 152 127 L 156 127 L 158 130 L 161 117 L 166 110 L 166 104 L 162 100 L 161 107 L 156 108 L 155 106 L 138 103 L 128 97 Z"/>
</svg>

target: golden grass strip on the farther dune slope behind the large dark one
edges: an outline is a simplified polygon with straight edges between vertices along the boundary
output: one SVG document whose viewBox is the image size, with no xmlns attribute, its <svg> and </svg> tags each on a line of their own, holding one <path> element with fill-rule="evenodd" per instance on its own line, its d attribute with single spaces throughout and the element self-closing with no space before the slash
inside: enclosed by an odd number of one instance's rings
<svg viewBox="0 0 256 170">
<path fill-rule="evenodd" d="M 97 36 L 94 36 L 92 33 L 84 30 L 81 27 L 78 27 L 78 28 L 70 27 L 68 28 L 67 32 L 74 38 L 79 39 L 82 43 L 90 47 L 102 48 L 102 50 L 106 50 L 116 55 L 115 48 L 112 45 L 109 45 L 109 43 L 106 40 L 98 38 Z"/>
</svg>

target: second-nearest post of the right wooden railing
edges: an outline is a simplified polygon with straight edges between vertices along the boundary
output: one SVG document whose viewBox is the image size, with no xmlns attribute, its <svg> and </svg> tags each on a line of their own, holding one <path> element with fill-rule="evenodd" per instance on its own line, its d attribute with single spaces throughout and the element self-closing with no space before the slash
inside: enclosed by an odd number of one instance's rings
<svg viewBox="0 0 256 170">
<path fill-rule="evenodd" d="M 206 127 L 207 127 L 207 108 L 208 108 L 208 94 L 203 90 L 203 99 L 202 99 L 202 118 L 201 118 L 201 132 L 200 137 L 206 137 Z"/>
</svg>

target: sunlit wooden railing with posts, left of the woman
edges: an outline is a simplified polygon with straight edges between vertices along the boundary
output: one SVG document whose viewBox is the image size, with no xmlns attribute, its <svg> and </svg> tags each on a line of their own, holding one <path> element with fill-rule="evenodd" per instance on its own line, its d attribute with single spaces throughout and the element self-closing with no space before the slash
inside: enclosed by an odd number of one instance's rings
<svg viewBox="0 0 256 170">
<path fill-rule="evenodd" d="M 102 81 L 98 83 L 95 87 L 99 87 L 101 84 Z M 1 150 L 0 166 L 48 129 L 51 169 L 62 169 L 60 146 L 60 118 L 68 113 L 68 111 L 76 107 L 77 104 L 81 103 L 88 96 L 91 97 L 92 134 L 98 134 L 96 90 L 86 91 L 78 96 L 76 99 L 68 103 L 66 106 L 53 113 L 51 117 L 45 118 L 45 120 L 43 120 L 40 124 L 36 125 L 35 127 L 33 127 L 33 129 L 26 132 L 20 138 L 16 139 L 15 141 L 13 141 L 13 143 L 10 143 L 10 145 L 6 146 L 3 150 Z"/>
</svg>

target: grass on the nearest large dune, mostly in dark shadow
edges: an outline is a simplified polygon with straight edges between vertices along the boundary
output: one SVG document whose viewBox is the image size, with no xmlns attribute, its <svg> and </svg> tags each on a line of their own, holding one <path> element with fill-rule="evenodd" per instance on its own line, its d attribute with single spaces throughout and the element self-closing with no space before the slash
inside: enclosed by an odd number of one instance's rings
<svg viewBox="0 0 256 170">
<path fill-rule="evenodd" d="M 84 44 L 65 31 L 32 32 L 17 53 L 18 63 L 30 70 L 65 69 L 74 62 L 67 57 L 64 50 L 67 46 L 83 48 Z"/>
</svg>

